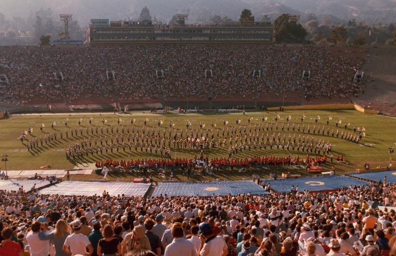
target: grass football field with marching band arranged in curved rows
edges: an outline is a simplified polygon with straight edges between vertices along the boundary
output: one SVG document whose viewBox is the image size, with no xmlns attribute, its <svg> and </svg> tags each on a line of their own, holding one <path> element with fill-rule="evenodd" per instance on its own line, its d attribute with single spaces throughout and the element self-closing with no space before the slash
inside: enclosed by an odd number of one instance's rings
<svg viewBox="0 0 396 256">
<path fill-rule="evenodd" d="M 278 116 L 279 115 L 279 116 Z M 301 122 L 301 117 L 304 116 L 303 122 Z M 287 122 L 287 117 L 291 119 Z M 89 123 L 90 118 L 91 125 Z M 262 121 L 264 118 L 264 122 Z M 315 118 L 317 118 L 318 122 L 315 124 Z M 331 119 L 330 119 L 331 118 Z M 67 126 L 65 126 L 65 121 L 67 120 Z M 79 125 L 78 121 L 81 119 L 81 124 Z M 103 119 L 105 123 L 103 124 Z M 120 119 L 119 124 L 117 120 Z M 250 122 L 248 122 L 250 119 Z M 277 121 L 275 120 L 277 119 Z M 329 120 L 329 125 L 326 124 L 327 119 Z M 133 128 L 131 124 L 131 120 L 134 120 Z M 145 125 L 146 120 L 146 125 Z M 237 125 L 237 120 L 239 124 Z M 226 122 L 226 125 L 223 125 L 223 122 Z M 336 122 L 340 122 L 341 124 L 336 127 Z M 158 126 L 159 122 L 159 126 Z M 213 127 L 212 127 L 213 122 Z M 53 129 L 51 128 L 51 123 L 54 123 Z M 186 124 L 189 123 L 189 128 L 187 129 Z M 266 125 L 268 123 L 268 131 Z M 273 128 L 271 130 L 271 123 L 273 124 Z M 278 129 L 276 130 L 276 123 L 278 124 Z M 287 129 L 287 124 L 289 123 L 290 128 Z M 44 124 L 45 127 L 43 130 L 40 130 L 40 126 Z M 172 124 L 172 126 L 170 126 Z M 282 130 L 282 124 L 284 128 Z M 295 131 L 293 131 L 293 124 L 295 124 Z M 349 124 L 347 129 L 344 128 L 345 124 Z M 260 125 L 260 128 L 259 128 Z M 300 130 L 298 132 L 297 127 L 300 125 Z M 304 132 L 302 131 L 302 126 L 304 125 Z M 111 132 L 111 126 L 113 126 L 113 132 Z M 118 126 L 118 133 L 116 132 L 116 127 Z M 121 134 L 122 134 L 122 126 L 124 126 L 123 138 L 126 144 L 125 151 L 122 147 L 121 142 Z M 202 126 L 202 128 L 200 128 Z M 246 131 L 245 131 L 246 126 Z M 310 128 L 310 132 L 308 133 L 308 126 Z M 315 126 L 315 133 L 313 133 L 313 127 Z M 127 129 L 129 127 L 130 133 L 130 141 L 132 144 L 131 151 L 128 147 L 128 139 L 127 139 Z M 247 135 L 247 143 L 249 142 L 249 134 L 258 133 L 258 140 L 254 140 L 256 142 L 256 150 L 253 149 L 253 139 L 251 140 L 251 149 L 248 150 L 248 147 L 245 150 L 238 150 L 238 153 L 233 154 L 233 158 L 245 158 L 249 156 L 291 156 L 297 157 L 299 156 L 302 159 L 305 159 L 306 155 L 316 157 L 319 156 L 318 152 L 302 152 L 302 148 L 299 148 L 297 151 L 297 142 L 298 136 L 301 136 L 301 143 L 303 137 L 305 137 L 305 141 L 309 138 L 309 140 L 313 141 L 313 145 L 315 145 L 315 140 L 328 141 L 332 144 L 332 152 L 334 155 L 333 164 L 335 165 L 337 174 L 342 174 L 348 171 L 354 171 L 355 169 L 362 169 L 365 163 L 370 164 L 371 168 L 381 166 L 386 167 L 389 166 L 390 156 L 389 147 L 396 146 L 396 119 L 382 117 L 377 115 L 368 115 L 362 114 L 355 110 L 326 110 L 326 111 L 285 111 L 285 112 L 256 112 L 256 111 L 247 111 L 244 115 L 242 112 L 239 113 L 214 113 L 214 112 L 204 112 L 204 113 L 191 113 L 191 114 L 181 114 L 181 113 L 165 113 L 165 114 L 150 114 L 148 112 L 132 112 L 131 114 L 118 114 L 113 115 L 112 113 L 107 114 L 98 114 L 98 113 L 81 113 L 76 114 L 22 114 L 22 115 L 12 115 L 9 119 L 0 120 L 0 152 L 8 154 L 8 162 L 7 162 L 7 170 L 40 170 L 40 167 L 51 165 L 52 169 L 57 170 L 65 170 L 65 169 L 73 169 L 75 167 L 78 168 L 93 168 L 92 163 L 95 161 L 101 161 L 103 159 L 113 159 L 113 160 L 136 160 L 136 159 L 161 159 L 165 158 L 165 155 L 160 154 L 159 144 L 158 151 L 155 153 L 154 150 L 154 141 L 155 136 L 158 136 L 159 129 L 159 137 L 160 140 L 158 142 L 164 147 L 163 144 L 163 134 L 165 130 L 165 146 L 168 147 L 170 143 L 171 157 L 175 158 L 193 158 L 194 156 L 198 157 L 199 152 L 202 149 L 198 148 L 182 148 L 181 145 L 179 147 L 178 144 L 173 145 L 174 134 L 176 130 L 177 140 L 186 139 L 186 129 L 191 137 L 191 130 L 193 129 L 194 136 L 197 135 L 198 138 L 202 139 L 205 136 L 206 130 L 208 132 L 208 138 L 211 139 L 211 133 L 213 132 L 213 136 L 215 141 L 217 142 L 221 136 L 222 143 L 219 144 L 219 148 L 216 143 L 212 148 L 205 148 L 205 154 L 209 156 L 209 159 L 213 158 L 228 158 L 228 149 L 230 146 L 230 135 L 231 128 L 237 129 L 237 132 L 233 133 L 233 143 L 235 144 L 235 137 L 240 135 L 240 127 L 242 133 L 242 143 L 245 141 L 245 135 Z M 320 129 L 320 133 L 318 134 L 318 127 Z M 322 129 L 325 128 L 324 134 L 322 134 Z M 353 128 L 362 129 L 362 132 L 365 133 L 365 136 L 362 137 L 359 143 L 351 142 L 347 139 L 341 138 L 341 133 L 349 133 L 353 134 Z M 29 128 L 33 129 L 31 134 L 27 134 L 23 143 L 20 140 L 20 136 L 22 132 L 28 131 Z M 71 135 L 71 128 L 73 128 L 73 136 Z M 75 133 L 75 128 L 77 128 L 77 134 Z M 82 128 L 82 135 L 81 135 Z M 88 133 L 87 133 L 88 128 Z M 92 129 L 91 129 L 92 128 Z M 96 132 L 96 128 L 98 128 L 98 134 Z M 103 133 L 101 129 L 103 128 Z M 109 131 L 107 132 L 107 128 Z M 138 148 L 135 150 L 134 142 L 132 139 L 132 135 L 136 137 L 137 130 L 139 128 L 139 143 L 137 143 Z M 142 142 L 143 128 L 145 129 L 144 135 L 144 147 L 143 152 L 140 148 L 140 143 Z M 224 135 L 223 135 L 224 128 Z M 229 132 L 227 134 L 227 128 Z M 327 129 L 329 128 L 330 133 L 327 135 Z M 154 130 L 153 130 L 154 129 Z M 169 136 L 170 129 L 170 136 Z M 334 136 L 332 136 L 332 130 L 334 129 Z M 336 131 L 339 129 L 339 137 L 336 136 Z M 68 136 L 66 137 L 66 130 L 68 131 Z M 183 131 L 183 135 L 181 136 L 180 130 Z M 217 130 L 218 134 L 217 135 Z M 63 138 L 60 137 L 60 131 L 62 131 Z M 152 135 L 152 140 L 150 136 Z M 45 142 L 45 136 L 49 135 L 52 132 L 56 132 L 56 140 Z M 202 135 L 201 135 L 202 132 Z M 276 142 L 273 144 L 274 146 L 270 149 L 269 142 L 267 142 L 266 149 L 264 150 L 264 141 L 267 140 L 266 136 L 269 134 L 269 140 L 272 139 L 273 134 L 275 133 L 276 140 L 278 140 L 278 134 L 280 135 L 281 142 L 283 141 L 284 135 L 286 136 L 285 143 L 288 142 L 289 134 L 292 136 L 291 143 L 293 142 L 294 134 L 297 137 L 295 150 L 292 150 L 292 146 L 290 146 L 289 150 L 285 147 L 282 149 L 276 148 Z M 118 152 L 114 149 L 111 153 L 108 150 L 107 154 L 103 150 L 103 153 L 97 154 L 94 149 L 94 154 L 91 155 L 91 151 L 89 151 L 88 156 L 85 151 L 83 157 L 71 158 L 71 160 L 66 159 L 65 148 L 69 147 L 72 143 L 77 142 L 79 140 L 87 139 L 91 137 L 92 144 L 95 148 L 95 138 L 97 139 L 97 143 L 100 146 L 100 136 L 103 138 L 103 146 L 105 144 L 105 137 L 107 136 L 108 143 L 110 144 L 110 136 L 113 137 L 113 144 L 116 144 L 115 137 L 118 134 L 119 137 L 119 150 Z M 146 142 L 146 135 L 148 142 Z M 264 134 L 264 140 L 262 140 L 262 134 Z M 357 136 L 357 132 L 356 132 Z M 170 137 L 170 139 L 169 139 Z M 27 142 L 29 140 L 38 139 L 38 146 L 30 149 L 27 149 Z M 43 146 L 41 145 L 41 138 L 43 138 Z M 223 147 L 224 139 L 226 140 L 225 147 Z M 240 139 L 238 140 L 238 149 L 240 145 Z M 150 142 L 151 141 L 151 142 Z M 261 150 L 258 147 L 258 142 L 261 141 L 262 148 Z M 305 142 L 306 143 L 306 142 Z M 145 146 L 148 144 L 148 152 L 146 152 Z M 149 145 L 152 145 L 152 150 L 150 152 Z M 88 144 L 89 145 L 89 144 Z M 323 156 L 323 152 L 320 152 L 320 155 Z M 345 163 L 335 163 L 335 158 L 337 155 L 342 155 L 346 158 Z M 328 164 L 324 167 L 325 170 L 330 170 L 330 154 L 327 155 Z M 4 163 L 2 162 L 1 171 L 4 171 Z M 273 168 L 274 171 L 280 171 L 279 168 L 268 167 L 268 169 L 264 170 L 262 176 L 268 176 L 269 172 Z M 285 171 L 285 170 L 283 170 Z M 294 173 L 303 174 L 304 170 L 287 170 Z M 229 178 L 229 179 L 240 179 L 242 175 L 248 176 L 252 173 L 256 172 L 256 170 L 248 170 L 245 173 L 234 172 L 230 173 L 227 170 L 222 171 L 218 175 L 220 178 Z M 131 175 L 139 176 L 138 173 L 132 173 Z M 89 175 L 88 175 L 89 176 Z M 184 177 L 179 176 L 176 173 L 175 176 L 180 180 L 184 180 Z M 126 176 L 121 176 L 121 178 L 125 178 Z"/>
</svg>

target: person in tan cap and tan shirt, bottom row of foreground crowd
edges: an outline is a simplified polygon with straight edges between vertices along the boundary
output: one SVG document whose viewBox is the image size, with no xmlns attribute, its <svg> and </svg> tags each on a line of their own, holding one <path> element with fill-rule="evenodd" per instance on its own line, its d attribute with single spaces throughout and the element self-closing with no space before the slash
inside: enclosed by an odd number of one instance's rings
<svg viewBox="0 0 396 256">
<path fill-rule="evenodd" d="M 121 254 L 125 255 L 134 249 L 147 249 L 151 251 L 150 242 L 145 233 L 146 230 L 143 226 L 137 225 L 134 227 L 132 232 L 126 235 L 121 242 Z"/>
</svg>

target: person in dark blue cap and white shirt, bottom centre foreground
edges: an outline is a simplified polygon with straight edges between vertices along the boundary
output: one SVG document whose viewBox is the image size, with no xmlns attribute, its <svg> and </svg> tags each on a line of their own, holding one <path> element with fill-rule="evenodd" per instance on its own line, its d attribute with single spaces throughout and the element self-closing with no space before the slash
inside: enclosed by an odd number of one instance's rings
<svg viewBox="0 0 396 256">
<path fill-rule="evenodd" d="M 227 255 L 227 244 L 222 236 L 213 234 L 212 227 L 207 222 L 199 224 L 199 238 L 201 240 L 200 255 L 219 256 Z M 250 245 L 250 244 L 249 244 Z M 250 247 L 249 247 L 250 248 Z"/>
</svg>

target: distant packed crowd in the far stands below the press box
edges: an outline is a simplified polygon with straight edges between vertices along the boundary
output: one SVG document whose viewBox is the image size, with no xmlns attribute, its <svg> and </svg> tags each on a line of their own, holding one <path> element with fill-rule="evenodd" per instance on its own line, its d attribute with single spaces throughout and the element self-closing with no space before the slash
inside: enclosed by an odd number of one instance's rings
<svg viewBox="0 0 396 256">
<path fill-rule="evenodd" d="M 146 45 L 98 48 L 2 48 L 1 69 L 10 92 L 20 103 L 36 100 L 64 102 L 61 86 L 53 72 L 62 72 L 63 85 L 71 102 L 99 98 L 112 102 L 112 86 L 105 71 L 115 72 L 114 89 L 120 100 L 246 98 L 254 94 L 252 71 L 262 70 L 257 81 L 259 97 L 279 97 L 283 91 L 300 93 L 307 85 L 310 98 L 347 98 L 360 90 L 352 82 L 364 63 L 363 54 L 353 58 L 331 53 L 326 48 L 310 51 L 309 81 L 301 80 L 308 68 L 308 48 L 272 46 L 173 46 Z M 164 71 L 162 85 L 155 69 Z M 213 77 L 205 79 L 205 69 Z M 209 95 L 208 86 L 211 86 Z M 290 94 L 289 94 L 290 95 Z M 43 103 L 43 102 L 41 102 Z"/>
</svg>

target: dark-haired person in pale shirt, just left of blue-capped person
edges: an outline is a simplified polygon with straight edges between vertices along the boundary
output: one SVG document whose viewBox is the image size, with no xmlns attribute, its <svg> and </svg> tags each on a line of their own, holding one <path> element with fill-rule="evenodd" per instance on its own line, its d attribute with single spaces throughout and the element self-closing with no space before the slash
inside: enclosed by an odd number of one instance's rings
<svg viewBox="0 0 396 256">
<path fill-rule="evenodd" d="M 177 219 L 177 218 L 175 218 Z M 164 256 L 197 256 L 198 252 L 193 242 L 183 239 L 184 231 L 181 222 L 174 222 L 171 231 L 173 241 L 165 248 Z"/>
</svg>

